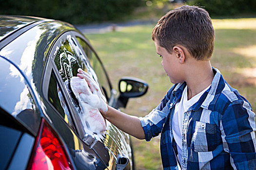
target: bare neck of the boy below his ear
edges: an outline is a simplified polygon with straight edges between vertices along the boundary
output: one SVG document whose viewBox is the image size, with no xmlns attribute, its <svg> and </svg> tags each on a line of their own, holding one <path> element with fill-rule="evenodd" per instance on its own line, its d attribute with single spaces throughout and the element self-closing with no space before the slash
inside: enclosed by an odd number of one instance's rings
<svg viewBox="0 0 256 170">
<path fill-rule="evenodd" d="M 188 86 L 188 100 L 212 84 L 214 72 L 210 61 L 192 61 L 187 65 L 186 83 Z"/>
</svg>

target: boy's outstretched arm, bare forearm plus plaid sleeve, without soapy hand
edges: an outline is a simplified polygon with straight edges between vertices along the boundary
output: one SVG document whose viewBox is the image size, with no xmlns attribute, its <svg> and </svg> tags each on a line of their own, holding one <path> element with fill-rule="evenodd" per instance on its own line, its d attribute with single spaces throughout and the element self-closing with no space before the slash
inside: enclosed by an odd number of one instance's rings
<svg viewBox="0 0 256 170">
<path fill-rule="evenodd" d="M 158 136 L 161 131 L 165 118 L 169 111 L 169 97 L 175 85 L 167 92 L 156 109 L 153 109 L 147 116 L 138 118 L 136 116 L 127 115 L 113 107 L 108 106 L 108 111 L 101 114 L 112 124 L 117 126 L 122 131 L 138 139 L 146 139 L 150 141 L 152 137 Z"/>
</svg>

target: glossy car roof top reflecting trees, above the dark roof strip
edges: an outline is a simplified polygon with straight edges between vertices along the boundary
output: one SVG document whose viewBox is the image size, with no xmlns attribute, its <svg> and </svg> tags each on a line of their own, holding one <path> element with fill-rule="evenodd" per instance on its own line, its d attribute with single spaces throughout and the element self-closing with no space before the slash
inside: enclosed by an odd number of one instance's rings
<svg viewBox="0 0 256 170">
<path fill-rule="evenodd" d="M 44 20 L 40 17 L 0 15 L 0 40 L 29 24 Z"/>
</svg>

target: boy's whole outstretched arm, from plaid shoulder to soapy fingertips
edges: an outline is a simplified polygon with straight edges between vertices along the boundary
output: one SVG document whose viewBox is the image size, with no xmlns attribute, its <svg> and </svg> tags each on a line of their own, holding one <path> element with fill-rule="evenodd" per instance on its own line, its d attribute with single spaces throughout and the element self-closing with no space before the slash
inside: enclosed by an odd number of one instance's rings
<svg viewBox="0 0 256 170">
<path fill-rule="evenodd" d="M 156 109 L 153 109 L 149 115 L 144 118 L 138 118 L 124 114 L 106 104 L 106 99 L 102 95 L 101 90 L 94 78 L 81 68 L 78 69 L 78 77 L 85 79 L 91 92 L 98 96 L 98 110 L 112 124 L 120 130 L 135 136 L 139 139 L 149 141 L 152 137 L 161 133 L 162 126 L 169 110 L 169 97 L 175 85 L 167 92 L 164 99 L 160 102 Z M 143 126 L 143 127 L 142 127 Z"/>
</svg>

